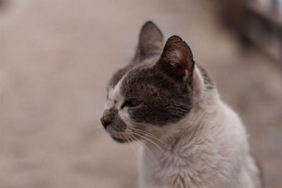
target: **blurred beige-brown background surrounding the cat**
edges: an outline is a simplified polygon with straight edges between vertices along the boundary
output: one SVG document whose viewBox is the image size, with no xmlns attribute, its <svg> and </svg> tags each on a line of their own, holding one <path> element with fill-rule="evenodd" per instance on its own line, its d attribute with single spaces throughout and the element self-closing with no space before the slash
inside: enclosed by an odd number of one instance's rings
<svg viewBox="0 0 282 188">
<path fill-rule="evenodd" d="M 282 187 L 282 1 L 0 0 L 0 187 L 137 187 L 138 143 L 99 122 L 111 75 L 153 20 L 180 35 Z"/>
</svg>

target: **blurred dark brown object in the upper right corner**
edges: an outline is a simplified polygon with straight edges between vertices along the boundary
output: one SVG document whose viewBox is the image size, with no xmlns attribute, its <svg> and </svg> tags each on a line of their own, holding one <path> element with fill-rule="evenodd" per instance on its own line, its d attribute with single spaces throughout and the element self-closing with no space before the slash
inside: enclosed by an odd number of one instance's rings
<svg viewBox="0 0 282 188">
<path fill-rule="evenodd" d="M 243 44 L 282 62 L 282 0 L 220 0 L 223 21 Z"/>
</svg>

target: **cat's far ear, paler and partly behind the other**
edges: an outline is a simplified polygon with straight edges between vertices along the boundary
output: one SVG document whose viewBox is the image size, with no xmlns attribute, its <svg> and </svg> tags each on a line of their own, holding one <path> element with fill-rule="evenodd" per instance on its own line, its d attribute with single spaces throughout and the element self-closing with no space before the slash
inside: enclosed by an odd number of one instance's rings
<svg viewBox="0 0 282 188">
<path fill-rule="evenodd" d="M 152 54 L 160 53 L 163 42 L 161 30 L 152 21 L 148 21 L 140 31 L 136 56 L 146 58 Z"/>
</svg>

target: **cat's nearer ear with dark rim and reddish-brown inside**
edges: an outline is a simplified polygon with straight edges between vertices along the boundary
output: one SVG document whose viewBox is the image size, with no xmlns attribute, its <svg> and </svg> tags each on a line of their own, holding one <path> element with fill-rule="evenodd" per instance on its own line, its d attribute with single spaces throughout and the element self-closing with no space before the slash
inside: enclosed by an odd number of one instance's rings
<svg viewBox="0 0 282 188">
<path fill-rule="evenodd" d="M 176 35 L 169 37 L 157 62 L 158 68 L 171 77 L 191 83 L 194 65 L 192 51 L 186 42 Z"/>
</svg>

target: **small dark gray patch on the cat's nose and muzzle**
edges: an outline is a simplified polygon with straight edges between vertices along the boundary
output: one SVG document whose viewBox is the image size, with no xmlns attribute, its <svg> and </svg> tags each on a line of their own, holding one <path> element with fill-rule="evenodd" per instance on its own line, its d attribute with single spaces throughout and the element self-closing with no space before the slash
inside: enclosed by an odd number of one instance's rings
<svg viewBox="0 0 282 188">
<path fill-rule="evenodd" d="M 127 128 L 123 120 L 119 117 L 118 110 L 116 108 L 106 110 L 102 115 L 101 121 L 105 128 L 109 126 L 117 132 L 125 131 Z"/>
</svg>

